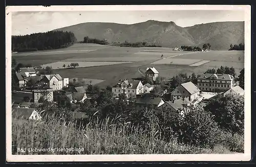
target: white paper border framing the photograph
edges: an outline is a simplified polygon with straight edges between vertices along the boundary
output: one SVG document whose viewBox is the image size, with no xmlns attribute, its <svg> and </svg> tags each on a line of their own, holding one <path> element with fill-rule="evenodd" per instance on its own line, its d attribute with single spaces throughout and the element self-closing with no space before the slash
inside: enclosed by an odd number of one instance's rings
<svg viewBox="0 0 256 167">
<path fill-rule="evenodd" d="M 22 11 L 244 10 L 245 12 L 245 153 L 129 155 L 11 155 L 11 31 L 12 12 Z M 251 6 L 250 5 L 102 5 L 6 7 L 6 160 L 46 161 L 249 161 L 251 159 Z"/>
</svg>

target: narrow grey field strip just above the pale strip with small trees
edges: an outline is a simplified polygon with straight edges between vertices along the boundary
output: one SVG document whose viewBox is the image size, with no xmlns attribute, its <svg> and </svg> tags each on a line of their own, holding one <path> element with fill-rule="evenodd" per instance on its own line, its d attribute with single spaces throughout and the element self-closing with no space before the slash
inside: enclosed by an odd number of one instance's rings
<svg viewBox="0 0 256 167">
<path fill-rule="evenodd" d="M 148 57 L 146 60 L 157 60 L 159 58 Z M 66 59 L 65 61 L 137 62 L 137 61 L 145 61 L 145 58 L 144 57 L 97 57 L 97 58 L 71 58 L 71 59 Z"/>
</svg>

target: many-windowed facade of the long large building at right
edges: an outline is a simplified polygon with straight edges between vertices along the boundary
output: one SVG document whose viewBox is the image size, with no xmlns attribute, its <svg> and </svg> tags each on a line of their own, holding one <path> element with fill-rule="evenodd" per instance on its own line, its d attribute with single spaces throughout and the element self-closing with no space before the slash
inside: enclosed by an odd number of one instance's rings
<svg viewBox="0 0 256 167">
<path fill-rule="evenodd" d="M 236 86 L 236 83 L 228 80 L 198 79 L 197 86 L 201 91 L 220 92 Z"/>
</svg>

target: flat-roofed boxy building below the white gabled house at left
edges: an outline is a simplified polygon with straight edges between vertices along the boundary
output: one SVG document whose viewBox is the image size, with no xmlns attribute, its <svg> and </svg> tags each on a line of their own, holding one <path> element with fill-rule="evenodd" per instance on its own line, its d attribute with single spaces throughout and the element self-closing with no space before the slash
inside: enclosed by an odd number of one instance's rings
<svg viewBox="0 0 256 167">
<path fill-rule="evenodd" d="M 33 100 L 34 103 L 41 103 L 38 102 L 40 98 L 44 98 L 44 100 L 47 100 L 49 102 L 53 102 L 53 89 L 52 88 L 45 88 L 45 89 L 35 89 L 32 90 L 33 93 Z"/>
</svg>

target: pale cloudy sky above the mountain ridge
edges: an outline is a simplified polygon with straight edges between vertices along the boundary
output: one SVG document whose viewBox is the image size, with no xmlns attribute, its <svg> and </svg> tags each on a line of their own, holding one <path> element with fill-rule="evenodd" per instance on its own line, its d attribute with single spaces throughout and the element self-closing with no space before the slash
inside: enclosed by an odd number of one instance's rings
<svg viewBox="0 0 256 167">
<path fill-rule="evenodd" d="M 244 21 L 244 16 L 244 11 L 238 10 L 12 12 L 12 35 L 47 32 L 83 22 L 132 24 L 158 20 L 189 27 L 217 21 Z"/>
</svg>

